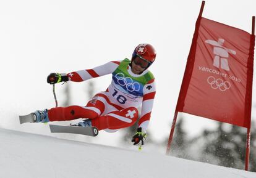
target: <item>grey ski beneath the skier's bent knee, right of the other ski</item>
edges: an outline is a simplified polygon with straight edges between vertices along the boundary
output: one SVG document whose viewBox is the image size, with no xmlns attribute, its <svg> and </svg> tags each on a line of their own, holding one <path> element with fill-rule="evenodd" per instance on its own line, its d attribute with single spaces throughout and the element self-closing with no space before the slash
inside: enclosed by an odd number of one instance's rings
<svg viewBox="0 0 256 178">
<path fill-rule="evenodd" d="M 52 133 L 81 134 L 96 137 L 99 132 L 96 127 L 59 126 L 53 124 L 49 124 L 49 127 Z"/>
</svg>

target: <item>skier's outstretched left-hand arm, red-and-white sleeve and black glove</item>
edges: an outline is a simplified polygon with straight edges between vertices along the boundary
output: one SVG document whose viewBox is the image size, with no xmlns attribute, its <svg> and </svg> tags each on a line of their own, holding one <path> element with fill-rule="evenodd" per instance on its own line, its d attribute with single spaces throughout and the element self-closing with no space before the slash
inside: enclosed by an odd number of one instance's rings
<svg viewBox="0 0 256 178">
<path fill-rule="evenodd" d="M 81 82 L 86 81 L 87 79 L 108 75 L 116 70 L 119 63 L 119 61 L 111 61 L 92 69 L 73 71 L 67 74 L 51 73 L 47 78 L 47 83 L 54 84 L 65 81 Z"/>
</svg>

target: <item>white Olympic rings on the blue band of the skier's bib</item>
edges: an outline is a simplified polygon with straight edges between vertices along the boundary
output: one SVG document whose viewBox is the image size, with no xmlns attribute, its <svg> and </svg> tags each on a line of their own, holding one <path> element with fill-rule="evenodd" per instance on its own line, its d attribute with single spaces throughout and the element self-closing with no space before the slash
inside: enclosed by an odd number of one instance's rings
<svg viewBox="0 0 256 178">
<path fill-rule="evenodd" d="M 134 92 L 140 90 L 140 84 L 134 82 L 130 77 L 125 78 L 123 73 L 117 73 L 115 77 L 119 85 L 126 86 L 127 91 Z"/>
</svg>

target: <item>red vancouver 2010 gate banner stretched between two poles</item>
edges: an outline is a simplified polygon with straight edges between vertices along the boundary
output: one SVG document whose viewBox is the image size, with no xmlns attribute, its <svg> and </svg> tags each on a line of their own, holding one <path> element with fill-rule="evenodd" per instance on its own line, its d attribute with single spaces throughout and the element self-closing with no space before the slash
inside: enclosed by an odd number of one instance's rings
<svg viewBox="0 0 256 178">
<path fill-rule="evenodd" d="M 249 128 L 255 36 L 207 18 L 199 22 L 177 111 Z"/>
</svg>

